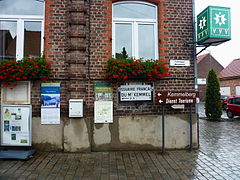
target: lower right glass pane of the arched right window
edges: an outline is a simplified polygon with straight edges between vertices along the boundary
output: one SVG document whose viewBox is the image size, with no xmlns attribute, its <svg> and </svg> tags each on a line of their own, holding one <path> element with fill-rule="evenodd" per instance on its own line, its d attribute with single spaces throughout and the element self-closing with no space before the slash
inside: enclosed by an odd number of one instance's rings
<svg viewBox="0 0 240 180">
<path fill-rule="evenodd" d="M 139 58 L 155 59 L 154 25 L 138 25 Z"/>
</svg>

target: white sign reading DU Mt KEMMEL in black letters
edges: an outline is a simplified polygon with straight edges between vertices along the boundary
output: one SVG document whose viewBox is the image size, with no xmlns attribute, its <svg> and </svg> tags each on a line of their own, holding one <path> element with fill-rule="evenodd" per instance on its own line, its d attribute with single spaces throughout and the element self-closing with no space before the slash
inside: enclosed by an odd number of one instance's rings
<svg viewBox="0 0 240 180">
<path fill-rule="evenodd" d="M 118 88 L 120 102 L 152 101 L 151 84 L 126 84 Z"/>
</svg>

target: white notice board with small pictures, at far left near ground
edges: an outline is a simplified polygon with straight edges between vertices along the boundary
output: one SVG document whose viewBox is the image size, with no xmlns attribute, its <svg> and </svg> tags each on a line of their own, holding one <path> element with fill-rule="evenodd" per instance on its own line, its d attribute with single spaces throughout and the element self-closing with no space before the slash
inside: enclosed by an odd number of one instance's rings
<svg viewBox="0 0 240 180">
<path fill-rule="evenodd" d="M 30 105 L 2 106 L 2 146 L 31 146 L 31 109 Z"/>
</svg>

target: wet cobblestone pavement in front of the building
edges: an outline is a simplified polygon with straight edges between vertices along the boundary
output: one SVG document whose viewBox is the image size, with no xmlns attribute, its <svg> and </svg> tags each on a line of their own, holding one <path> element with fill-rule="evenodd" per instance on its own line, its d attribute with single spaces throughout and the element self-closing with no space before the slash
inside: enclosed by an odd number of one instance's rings
<svg viewBox="0 0 240 180">
<path fill-rule="evenodd" d="M 1 160 L 0 179 L 240 179 L 240 120 L 200 120 L 199 150 L 37 152 L 28 161 Z"/>
</svg>

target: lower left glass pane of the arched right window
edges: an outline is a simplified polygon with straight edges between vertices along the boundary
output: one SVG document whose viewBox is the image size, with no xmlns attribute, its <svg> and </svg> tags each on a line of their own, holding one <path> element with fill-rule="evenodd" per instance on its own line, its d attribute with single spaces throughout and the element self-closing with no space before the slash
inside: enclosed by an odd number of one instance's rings
<svg viewBox="0 0 240 180">
<path fill-rule="evenodd" d="M 132 56 L 132 24 L 116 24 L 116 58 L 124 58 L 123 48 L 125 48 L 127 56 Z"/>
</svg>

